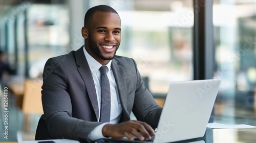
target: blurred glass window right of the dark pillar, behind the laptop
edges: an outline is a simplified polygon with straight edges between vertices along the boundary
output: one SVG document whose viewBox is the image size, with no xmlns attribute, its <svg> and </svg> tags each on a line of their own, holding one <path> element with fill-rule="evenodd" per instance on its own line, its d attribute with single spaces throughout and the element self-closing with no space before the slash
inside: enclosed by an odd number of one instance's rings
<svg viewBox="0 0 256 143">
<path fill-rule="evenodd" d="M 255 8 L 254 0 L 214 1 L 216 77 L 222 79 L 216 117 L 227 118 L 229 123 L 232 123 L 234 117 L 255 118 Z"/>
</svg>

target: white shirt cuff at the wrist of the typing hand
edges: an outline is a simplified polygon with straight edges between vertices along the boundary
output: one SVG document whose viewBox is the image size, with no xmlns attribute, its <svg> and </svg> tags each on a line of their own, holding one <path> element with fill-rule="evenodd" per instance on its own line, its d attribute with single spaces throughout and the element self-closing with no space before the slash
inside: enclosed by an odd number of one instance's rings
<svg viewBox="0 0 256 143">
<path fill-rule="evenodd" d="M 103 124 L 100 124 L 99 126 L 95 127 L 91 131 L 91 133 L 88 135 L 88 140 L 89 141 L 95 141 L 95 140 L 98 140 L 98 139 L 101 139 L 101 138 L 108 138 L 108 137 L 104 137 L 102 135 L 102 128 L 106 124 L 109 124 L 109 123 L 103 123 Z"/>
</svg>

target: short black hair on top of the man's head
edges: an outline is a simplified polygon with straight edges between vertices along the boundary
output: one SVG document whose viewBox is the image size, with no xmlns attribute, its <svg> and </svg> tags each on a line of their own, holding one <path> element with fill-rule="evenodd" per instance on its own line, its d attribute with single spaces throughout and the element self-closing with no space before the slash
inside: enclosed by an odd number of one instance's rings
<svg viewBox="0 0 256 143">
<path fill-rule="evenodd" d="M 84 27 L 88 26 L 89 22 L 92 21 L 93 15 L 96 12 L 109 12 L 109 13 L 116 13 L 116 10 L 114 10 L 112 7 L 110 6 L 106 6 L 106 5 L 99 5 L 99 6 L 95 6 L 90 8 L 87 12 L 86 15 L 84 16 Z"/>
</svg>

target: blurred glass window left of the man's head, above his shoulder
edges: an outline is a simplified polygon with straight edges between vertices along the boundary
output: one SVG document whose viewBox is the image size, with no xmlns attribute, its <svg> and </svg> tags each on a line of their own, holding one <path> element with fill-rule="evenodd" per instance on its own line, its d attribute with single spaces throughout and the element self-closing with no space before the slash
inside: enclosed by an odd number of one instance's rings
<svg viewBox="0 0 256 143">
<path fill-rule="evenodd" d="M 69 43 L 69 9 L 62 4 L 33 4 L 28 11 L 29 76 L 40 77 L 50 57 Z M 61 53 L 66 54 L 66 53 Z"/>
</svg>

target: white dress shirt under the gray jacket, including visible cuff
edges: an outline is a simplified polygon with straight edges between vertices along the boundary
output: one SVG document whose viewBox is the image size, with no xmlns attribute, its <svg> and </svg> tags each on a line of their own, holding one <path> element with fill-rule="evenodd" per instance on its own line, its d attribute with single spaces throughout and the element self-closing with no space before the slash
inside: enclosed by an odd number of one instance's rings
<svg viewBox="0 0 256 143">
<path fill-rule="evenodd" d="M 93 76 L 93 81 L 96 89 L 97 94 L 97 101 L 98 101 L 98 107 L 99 107 L 99 118 L 100 118 L 100 106 L 101 106 L 101 88 L 100 88 L 100 71 L 99 68 L 102 66 L 98 61 L 96 61 L 91 55 L 88 54 L 85 47 L 83 46 L 83 53 L 86 56 L 88 65 L 91 69 L 91 73 Z M 115 77 L 113 75 L 113 70 L 111 69 L 111 63 L 112 60 L 105 66 L 109 68 L 109 71 L 106 73 L 106 75 L 109 78 L 110 81 L 110 93 L 111 93 L 111 110 L 110 110 L 110 123 L 116 124 L 119 122 L 122 112 L 122 107 L 119 99 L 119 93 L 115 81 Z M 102 128 L 103 126 L 107 124 L 101 124 L 97 126 L 88 136 L 90 140 L 96 140 L 103 138 L 102 135 Z"/>
</svg>

